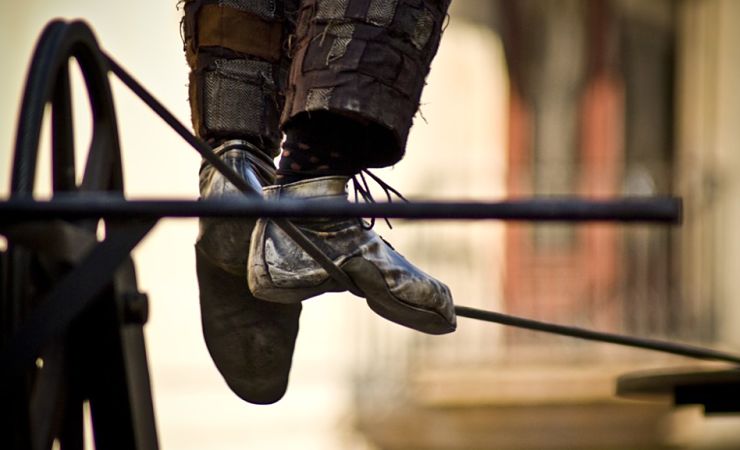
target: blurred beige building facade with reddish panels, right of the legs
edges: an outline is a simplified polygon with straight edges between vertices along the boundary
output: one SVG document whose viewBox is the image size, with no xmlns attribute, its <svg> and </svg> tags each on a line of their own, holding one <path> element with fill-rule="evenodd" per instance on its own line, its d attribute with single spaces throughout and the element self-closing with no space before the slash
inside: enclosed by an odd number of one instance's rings
<svg viewBox="0 0 740 450">
<path fill-rule="evenodd" d="M 415 198 L 678 195 L 685 222 L 414 224 L 394 245 L 458 304 L 739 345 L 740 248 L 727 240 L 740 220 L 740 4 L 458 1 L 451 15 L 428 125 L 390 180 Z M 614 397 L 619 374 L 687 360 L 465 319 L 448 337 L 363 334 L 356 423 L 378 448 L 740 445 L 697 409 Z"/>
</svg>

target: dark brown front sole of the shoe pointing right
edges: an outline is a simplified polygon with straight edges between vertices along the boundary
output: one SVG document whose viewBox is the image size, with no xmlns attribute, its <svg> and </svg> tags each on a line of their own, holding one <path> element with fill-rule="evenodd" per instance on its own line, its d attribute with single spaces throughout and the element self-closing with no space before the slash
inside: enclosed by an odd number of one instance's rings
<svg viewBox="0 0 740 450">
<path fill-rule="evenodd" d="M 365 293 L 367 305 L 379 316 L 427 334 L 447 334 L 457 328 L 437 311 L 411 305 L 394 296 L 388 289 L 383 274 L 369 261 L 351 258 L 342 268 Z"/>
</svg>

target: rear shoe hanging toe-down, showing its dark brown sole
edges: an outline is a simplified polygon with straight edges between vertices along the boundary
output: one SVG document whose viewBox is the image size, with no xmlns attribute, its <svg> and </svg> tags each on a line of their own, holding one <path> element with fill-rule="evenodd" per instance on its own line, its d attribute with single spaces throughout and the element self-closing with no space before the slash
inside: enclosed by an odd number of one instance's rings
<svg viewBox="0 0 740 450">
<path fill-rule="evenodd" d="M 246 141 L 215 149 L 257 191 L 275 168 Z M 244 195 L 209 164 L 200 172 L 201 198 Z M 254 220 L 203 218 L 195 244 L 201 325 L 206 346 L 227 385 L 242 399 L 274 403 L 285 394 L 301 305 L 256 299 L 247 287 L 249 237 Z"/>
</svg>

